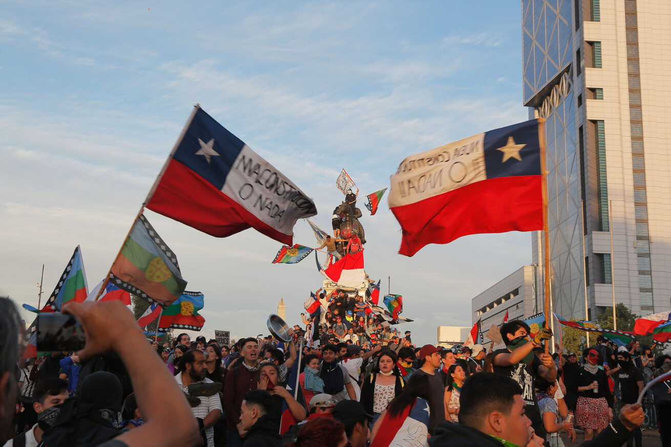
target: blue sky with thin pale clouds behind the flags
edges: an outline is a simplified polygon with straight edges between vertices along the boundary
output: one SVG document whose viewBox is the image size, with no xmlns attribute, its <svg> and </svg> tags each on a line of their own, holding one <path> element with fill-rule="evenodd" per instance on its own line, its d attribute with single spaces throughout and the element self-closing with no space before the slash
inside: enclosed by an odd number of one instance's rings
<svg viewBox="0 0 671 447">
<path fill-rule="evenodd" d="M 77 244 L 104 276 L 194 103 L 280 169 L 330 228 L 346 168 L 363 194 L 403 158 L 524 121 L 512 1 L 3 1 L 0 295 L 37 304 Z M 399 255 L 386 198 L 364 211 L 366 272 L 403 295 L 413 341 L 470 326 L 472 297 L 531 258 L 529 234 L 466 236 Z M 146 211 L 205 294 L 203 332 L 267 333 L 321 287 L 313 260 L 271 264 L 254 230 L 217 239 Z M 304 221 L 295 242 L 315 244 Z M 30 314 L 24 313 L 26 319 Z"/>
</svg>

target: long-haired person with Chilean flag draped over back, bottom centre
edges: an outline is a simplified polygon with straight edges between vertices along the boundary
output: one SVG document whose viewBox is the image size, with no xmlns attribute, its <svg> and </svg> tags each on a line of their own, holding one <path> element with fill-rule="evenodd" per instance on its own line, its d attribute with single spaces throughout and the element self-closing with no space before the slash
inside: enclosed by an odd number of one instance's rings
<svg viewBox="0 0 671 447">
<path fill-rule="evenodd" d="M 425 375 L 410 377 L 403 393 L 389 403 L 389 407 L 382 411 L 373 426 L 370 447 L 393 446 L 399 441 L 413 446 L 427 446 L 429 399 L 431 399 L 429 377 Z"/>
</svg>

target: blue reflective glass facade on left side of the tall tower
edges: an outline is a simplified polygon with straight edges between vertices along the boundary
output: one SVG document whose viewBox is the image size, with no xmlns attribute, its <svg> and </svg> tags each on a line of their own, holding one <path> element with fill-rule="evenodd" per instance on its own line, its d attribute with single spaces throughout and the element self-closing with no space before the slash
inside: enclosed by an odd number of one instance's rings
<svg viewBox="0 0 671 447">
<path fill-rule="evenodd" d="M 525 105 L 546 118 L 554 311 L 566 318 L 584 318 L 572 14 L 569 0 L 522 1 L 523 95 Z M 533 236 L 533 261 L 540 265 L 537 240 Z"/>
</svg>

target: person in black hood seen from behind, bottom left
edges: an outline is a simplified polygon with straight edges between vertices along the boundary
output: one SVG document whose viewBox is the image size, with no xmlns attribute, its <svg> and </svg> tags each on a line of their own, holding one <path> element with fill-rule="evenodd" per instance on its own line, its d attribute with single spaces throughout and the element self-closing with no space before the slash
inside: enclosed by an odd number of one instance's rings
<svg viewBox="0 0 671 447">
<path fill-rule="evenodd" d="M 81 382 L 78 397 L 62 403 L 42 440 L 49 447 L 89 447 L 119 436 L 113 422 L 121 410 L 121 382 L 111 372 L 98 371 Z"/>
</svg>

